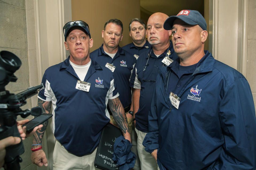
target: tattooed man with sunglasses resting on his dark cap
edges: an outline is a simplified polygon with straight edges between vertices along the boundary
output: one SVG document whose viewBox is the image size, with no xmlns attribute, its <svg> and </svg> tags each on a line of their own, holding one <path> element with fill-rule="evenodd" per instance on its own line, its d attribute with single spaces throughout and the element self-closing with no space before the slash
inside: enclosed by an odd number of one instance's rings
<svg viewBox="0 0 256 170">
<path fill-rule="evenodd" d="M 131 141 L 116 82 L 109 69 L 90 59 L 93 45 L 89 26 L 83 21 L 63 27 L 68 59 L 46 69 L 42 78 L 45 89 L 38 94 L 38 106 L 50 113 L 53 106 L 53 132 L 57 139 L 53 169 L 97 169 L 96 147 L 103 127 L 109 122 L 107 104 L 126 139 Z M 47 166 L 42 138 L 48 122 L 33 138 L 31 160 Z"/>
</svg>

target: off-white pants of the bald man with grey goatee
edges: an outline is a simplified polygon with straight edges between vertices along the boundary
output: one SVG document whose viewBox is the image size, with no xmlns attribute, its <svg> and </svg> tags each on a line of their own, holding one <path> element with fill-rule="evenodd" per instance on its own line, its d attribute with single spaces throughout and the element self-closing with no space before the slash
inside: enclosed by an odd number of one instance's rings
<svg viewBox="0 0 256 170">
<path fill-rule="evenodd" d="M 142 142 L 147 133 L 139 131 L 135 128 L 137 133 L 137 149 L 138 155 L 140 158 L 140 168 L 141 170 L 157 170 L 157 162 L 155 158 L 151 154 L 145 151 L 145 147 L 142 145 Z"/>
</svg>

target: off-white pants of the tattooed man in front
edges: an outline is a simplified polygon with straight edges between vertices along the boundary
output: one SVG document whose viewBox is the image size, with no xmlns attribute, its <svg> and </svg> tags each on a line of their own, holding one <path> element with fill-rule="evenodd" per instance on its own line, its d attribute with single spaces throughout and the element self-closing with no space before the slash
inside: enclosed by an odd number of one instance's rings
<svg viewBox="0 0 256 170">
<path fill-rule="evenodd" d="M 57 140 L 53 151 L 53 170 L 96 170 L 96 151 L 97 148 L 92 153 L 79 157 L 67 151 Z"/>
</svg>

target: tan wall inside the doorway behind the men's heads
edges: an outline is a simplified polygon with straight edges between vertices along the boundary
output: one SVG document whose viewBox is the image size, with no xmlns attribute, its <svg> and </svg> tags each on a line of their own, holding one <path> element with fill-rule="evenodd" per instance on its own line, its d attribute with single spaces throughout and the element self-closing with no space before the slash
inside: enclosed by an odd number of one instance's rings
<svg viewBox="0 0 256 170">
<path fill-rule="evenodd" d="M 88 23 L 93 38 L 93 47 L 90 52 L 99 48 L 103 43 L 101 31 L 109 19 L 119 19 L 123 23 L 123 40 L 120 47 L 132 42 L 129 36 L 129 23 L 133 18 L 140 18 L 139 0 L 72 0 L 72 20 L 83 20 Z"/>
</svg>

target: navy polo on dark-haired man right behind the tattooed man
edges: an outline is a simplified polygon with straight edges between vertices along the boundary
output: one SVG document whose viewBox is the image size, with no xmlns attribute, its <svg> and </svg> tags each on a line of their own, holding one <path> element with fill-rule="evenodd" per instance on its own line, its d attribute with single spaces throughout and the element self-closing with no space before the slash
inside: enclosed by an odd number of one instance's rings
<svg viewBox="0 0 256 170">
<path fill-rule="evenodd" d="M 123 107 L 131 105 L 131 89 L 129 87 L 129 80 L 136 59 L 130 53 L 123 50 L 118 46 L 118 51 L 113 59 L 104 52 L 103 44 L 100 48 L 90 53 L 90 58 L 105 67 L 106 63 L 114 65 L 114 77 L 117 85 L 117 91 L 119 93 L 119 99 Z"/>
</svg>

